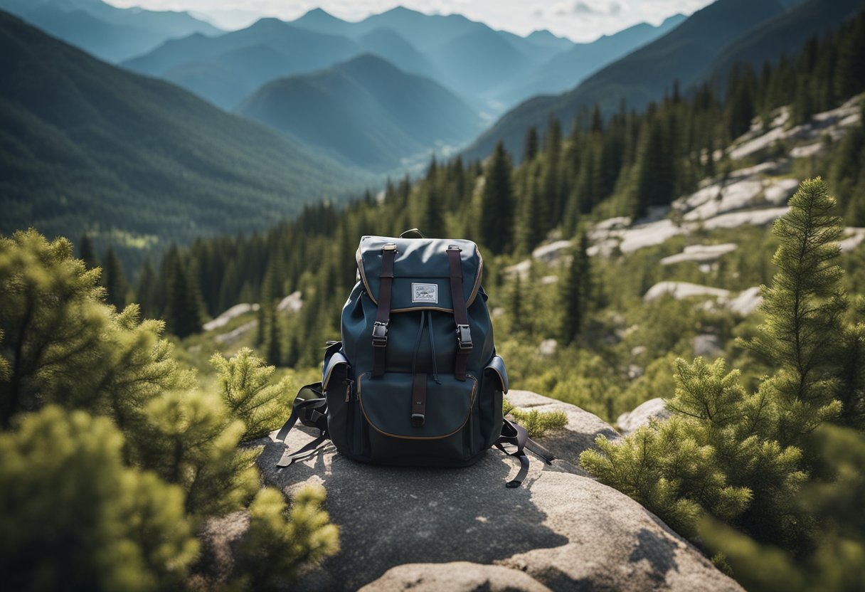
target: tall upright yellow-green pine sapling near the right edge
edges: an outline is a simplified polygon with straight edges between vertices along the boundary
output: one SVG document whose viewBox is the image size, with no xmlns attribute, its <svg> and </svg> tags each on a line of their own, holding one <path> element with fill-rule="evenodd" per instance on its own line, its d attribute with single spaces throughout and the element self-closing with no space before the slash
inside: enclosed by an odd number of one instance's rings
<svg viewBox="0 0 865 592">
<path fill-rule="evenodd" d="M 821 421 L 837 415 L 833 402 L 841 315 L 847 308 L 834 260 L 843 227 L 832 216 L 835 199 L 820 177 L 804 181 L 790 199 L 790 211 L 775 222 L 779 267 L 764 286 L 761 310 L 767 322 L 747 345 L 779 372 L 761 385 L 785 402 L 779 441 L 798 442 Z"/>
</svg>

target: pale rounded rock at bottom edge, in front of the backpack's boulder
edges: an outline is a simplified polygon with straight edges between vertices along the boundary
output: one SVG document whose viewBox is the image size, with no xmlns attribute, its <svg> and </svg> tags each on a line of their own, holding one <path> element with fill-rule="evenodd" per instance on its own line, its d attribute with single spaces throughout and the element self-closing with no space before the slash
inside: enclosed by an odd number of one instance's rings
<svg viewBox="0 0 865 592">
<path fill-rule="evenodd" d="M 519 569 L 500 565 L 481 565 L 467 561 L 452 563 L 407 563 L 388 569 L 384 576 L 368 583 L 361 592 L 548 592 L 541 582 Z"/>
</svg>

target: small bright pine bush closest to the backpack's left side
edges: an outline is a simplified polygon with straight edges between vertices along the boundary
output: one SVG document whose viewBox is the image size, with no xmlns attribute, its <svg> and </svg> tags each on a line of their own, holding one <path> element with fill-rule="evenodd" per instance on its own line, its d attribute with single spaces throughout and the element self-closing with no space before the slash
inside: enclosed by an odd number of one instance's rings
<svg viewBox="0 0 865 592">
<path fill-rule="evenodd" d="M 210 364 L 219 374 L 222 401 L 246 427 L 241 441 L 265 436 L 287 419 L 291 380 L 283 378 L 273 384 L 276 368 L 266 365 L 252 350 L 245 347 L 231 359 L 214 354 Z"/>
</svg>

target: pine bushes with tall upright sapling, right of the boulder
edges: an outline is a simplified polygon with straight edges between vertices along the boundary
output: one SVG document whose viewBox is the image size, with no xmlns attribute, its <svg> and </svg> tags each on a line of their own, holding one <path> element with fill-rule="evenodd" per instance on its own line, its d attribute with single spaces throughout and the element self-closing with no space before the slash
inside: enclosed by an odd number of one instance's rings
<svg viewBox="0 0 865 592">
<path fill-rule="evenodd" d="M 670 420 L 621 443 L 599 438 L 580 463 L 689 537 L 700 524 L 726 524 L 746 541 L 742 549 L 773 544 L 798 557 L 823 537 L 819 517 L 800 503 L 827 464 L 811 434 L 827 421 L 855 423 L 865 369 L 859 329 L 843 321 L 835 200 L 818 177 L 800 185 L 790 206 L 773 229 L 779 272 L 763 287 L 765 323 L 746 343 L 774 373 L 749 393 L 722 358 L 677 359 Z M 853 390 L 839 401 L 842 385 Z M 741 564 L 735 549 L 715 550 L 734 569 Z M 772 554 L 766 561 L 783 563 Z"/>
</svg>

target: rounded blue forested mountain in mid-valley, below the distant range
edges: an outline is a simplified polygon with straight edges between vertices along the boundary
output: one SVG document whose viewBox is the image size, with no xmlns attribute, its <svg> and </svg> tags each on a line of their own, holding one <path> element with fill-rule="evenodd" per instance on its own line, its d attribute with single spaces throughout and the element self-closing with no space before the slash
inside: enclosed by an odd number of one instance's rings
<svg viewBox="0 0 865 592">
<path fill-rule="evenodd" d="M 274 80 L 238 113 L 368 170 L 388 171 L 436 145 L 459 145 L 481 119 L 451 91 L 365 54 L 313 74 Z"/>
</svg>

